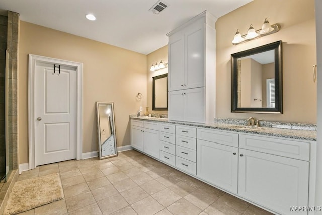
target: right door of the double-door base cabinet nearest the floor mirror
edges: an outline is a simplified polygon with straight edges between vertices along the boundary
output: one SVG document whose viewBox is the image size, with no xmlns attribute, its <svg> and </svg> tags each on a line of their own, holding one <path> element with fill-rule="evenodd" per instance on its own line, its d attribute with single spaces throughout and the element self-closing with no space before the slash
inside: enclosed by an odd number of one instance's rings
<svg viewBox="0 0 322 215">
<path fill-rule="evenodd" d="M 159 158 L 159 132 L 156 130 L 143 130 L 143 152 L 154 157 Z"/>
</svg>

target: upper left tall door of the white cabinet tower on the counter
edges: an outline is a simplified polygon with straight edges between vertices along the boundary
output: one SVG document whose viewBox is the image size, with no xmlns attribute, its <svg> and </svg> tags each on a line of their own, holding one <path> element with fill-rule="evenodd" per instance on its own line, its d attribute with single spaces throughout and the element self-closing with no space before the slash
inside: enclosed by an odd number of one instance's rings
<svg viewBox="0 0 322 215">
<path fill-rule="evenodd" d="M 179 31 L 169 37 L 168 43 L 168 89 L 182 90 L 184 88 L 184 35 Z"/>
</svg>

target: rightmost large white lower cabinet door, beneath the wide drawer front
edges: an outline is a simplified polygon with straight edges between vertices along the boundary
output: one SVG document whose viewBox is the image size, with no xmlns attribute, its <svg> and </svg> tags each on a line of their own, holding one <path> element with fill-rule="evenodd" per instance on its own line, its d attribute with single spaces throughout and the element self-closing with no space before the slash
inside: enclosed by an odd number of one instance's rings
<svg viewBox="0 0 322 215">
<path fill-rule="evenodd" d="M 239 149 L 238 194 L 281 214 L 308 205 L 309 163 Z M 298 212 L 296 214 L 307 214 Z"/>
</svg>

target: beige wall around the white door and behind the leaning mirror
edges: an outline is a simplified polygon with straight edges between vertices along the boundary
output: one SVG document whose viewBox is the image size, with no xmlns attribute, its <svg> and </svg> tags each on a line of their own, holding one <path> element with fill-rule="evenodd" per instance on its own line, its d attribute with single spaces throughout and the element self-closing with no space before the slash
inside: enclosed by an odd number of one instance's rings
<svg viewBox="0 0 322 215">
<path fill-rule="evenodd" d="M 146 106 L 146 55 L 21 21 L 20 163 L 28 162 L 28 54 L 83 63 L 83 153 L 98 150 L 96 101 L 114 102 L 117 145 L 130 144 L 129 114 Z"/>
</svg>

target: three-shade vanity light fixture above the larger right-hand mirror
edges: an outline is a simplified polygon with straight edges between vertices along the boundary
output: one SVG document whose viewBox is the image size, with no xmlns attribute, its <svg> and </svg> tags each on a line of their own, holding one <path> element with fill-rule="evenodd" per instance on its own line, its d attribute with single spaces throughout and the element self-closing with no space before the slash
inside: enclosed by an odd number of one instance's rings
<svg viewBox="0 0 322 215">
<path fill-rule="evenodd" d="M 247 42 L 249 40 L 253 40 L 259 37 L 263 37 L 269 34 L 273 34 L 278 32 L 281 29 L 280 24 L 276 23 L 274 25 L 271 25 L 267 18 L 265 18 L 265 21 L 262 25 L 262 29 L 255 30 L 253 25 L 251 24 L 250 28 L 247 31 L 247 34 L 241 35 L 239 30 L 237 29 L 237 32 L 235 33 L 235 36 L 233 40 L 231 41 L 232 44 L 237 45 L 240 43 Z"/>
</svg>

